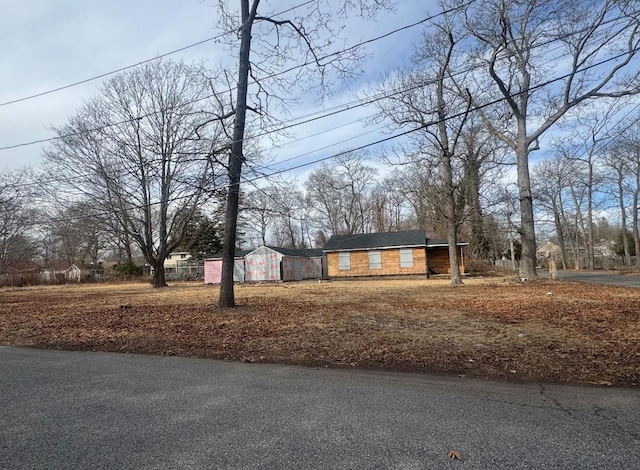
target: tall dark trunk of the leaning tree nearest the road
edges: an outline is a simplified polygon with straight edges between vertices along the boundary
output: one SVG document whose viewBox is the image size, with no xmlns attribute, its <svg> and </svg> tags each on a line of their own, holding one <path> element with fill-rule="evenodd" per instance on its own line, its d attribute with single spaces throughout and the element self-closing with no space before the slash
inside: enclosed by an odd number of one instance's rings
<svg viewBox="0 0 640 470">
<path fill-rule="evenodd" d="M 233 292 L 233 263 L 236 249 L 236 231 L 238 227 L 238 202 L 240 200 L 240 175 L 244 162 L 243 141 L 245 118 L 247 114 L 247 88 L 249 79 L 249 54 L 251 52 L 251 27 L 255 18 L 258 0 L 254 0 L 253 10 L 249 11 L 249 0 L 241 0 L 242 28 L 240 57 L 238 61 L 238 90 L 236 95 L 235 118 L 233 123 L 233 141 L 229 157 L 229 191 L 225 210 L 224 240 L 222 245 L 222 278 L 220 280 L 221 308 L 235 307 Z"/>
</svg>

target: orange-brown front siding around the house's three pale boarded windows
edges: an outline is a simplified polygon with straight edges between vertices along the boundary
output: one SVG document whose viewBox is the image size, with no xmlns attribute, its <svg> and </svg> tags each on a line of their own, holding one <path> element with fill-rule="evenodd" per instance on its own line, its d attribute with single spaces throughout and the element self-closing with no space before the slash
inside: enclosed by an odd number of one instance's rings
<svg viewBox="0 0 640 470">
<path fill-rule="evenodd" d="M 424 247 L 412 248 L 413 267 L 410 268 L 400 267 L 400 248 L 389 248 L 379 250 L 382 259 L 382 269 L 370 269 L 369 251 L 372 250 L 350 251 L 351 269 L 349 270 L 339 269 L 339 252 L 332 251 L 327 253 L 327 275 L 329 277 L 357 277 L 426 274 L 426 254 Z"/>
</svg>

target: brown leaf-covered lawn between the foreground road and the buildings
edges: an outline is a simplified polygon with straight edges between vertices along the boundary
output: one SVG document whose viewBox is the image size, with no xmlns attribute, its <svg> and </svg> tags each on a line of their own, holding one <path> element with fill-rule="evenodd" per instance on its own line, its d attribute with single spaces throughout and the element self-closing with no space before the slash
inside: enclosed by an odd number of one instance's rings
<svg viewBox="0 0 640 470">
<path fill-rule="evenodd" d="M 503 279 L 0 289 L 0 345 L 640 384 L 640 289 Z"/>
</svg>

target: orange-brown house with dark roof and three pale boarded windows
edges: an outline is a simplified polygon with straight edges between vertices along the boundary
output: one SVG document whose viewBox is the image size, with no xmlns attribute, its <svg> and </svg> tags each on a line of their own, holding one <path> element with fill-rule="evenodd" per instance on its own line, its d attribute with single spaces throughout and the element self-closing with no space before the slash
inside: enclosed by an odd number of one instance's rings
<svg viewBox="0 0 640 470">
<path fill-rule="evenodd" d="M 464 272 L 458 244 L 460 271 Z M 333 235 L 325 245 L 328 277 L 450 274 L 449 245 L 422 230 Z"/>
</svg>

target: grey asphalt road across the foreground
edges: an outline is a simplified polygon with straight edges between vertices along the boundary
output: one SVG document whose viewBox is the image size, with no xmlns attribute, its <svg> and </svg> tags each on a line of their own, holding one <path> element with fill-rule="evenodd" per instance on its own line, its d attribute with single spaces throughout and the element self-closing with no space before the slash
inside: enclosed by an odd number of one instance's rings
<svg viewBox="0 0 640 470">
<path fill-rule="evenodd" d="M 640 390 L 0 347 L 0 466 L 640 468 Z"/>
</svg>

